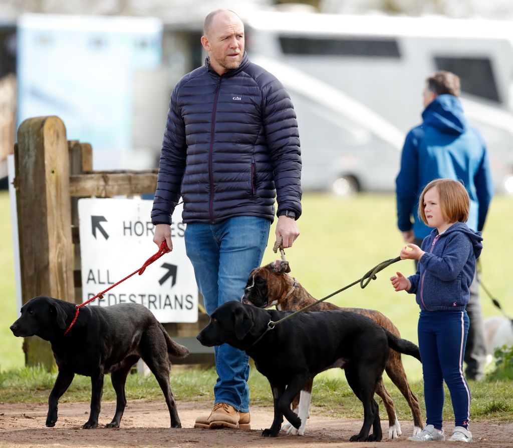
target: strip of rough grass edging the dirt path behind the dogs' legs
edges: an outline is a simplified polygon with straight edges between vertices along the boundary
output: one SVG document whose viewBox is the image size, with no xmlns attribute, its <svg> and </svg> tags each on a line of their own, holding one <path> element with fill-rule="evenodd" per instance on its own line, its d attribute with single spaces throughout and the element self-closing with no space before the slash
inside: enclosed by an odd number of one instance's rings
<svg viewBox="0 0 513 448">
<path fill-rule="evenodd" d="M 408 375 L 410 376 L 410 375 Z M 171 388 L 176 399 L 181 401 L 211 401 L 213 384 L 217 374 L 212 369 L 194 371 L 173 368 Z M 45 403 L 55 382 L 55 372 L 46 372 L 41 368 L 20 368 L 0 372 L 0 395 L 5 403 Z M 269 383 L 257 370 L 251 369 L 249 376 L 251 405 L 272 406 Z M 425 409 L 423 382 L 411 382 L 412 392 L 419 398 L 421 409 Z M 472 394 L 472 420 L 510 421 L 513 412 L 513 382 L 479 381 L 469 382 Z M 406 400 L 394 386 L 387 386 L 400 420 L 411 419 L 411 412 Z M 103 400 L 115 400 L 114 390 L 106 378 Z M 162 400 L 162 392 L 153 375 L 129 375 L 126 384 L 127 399 Z M 91 398 L 90 378 L 76 375 L 69 389 L 60 402 L 88 402 Z M 381 403 L 381 400 L 379 400 Z M 445 388 L 445 402 L 450 403 L 450 396 Z M 319 375 L 313 385 L 312 410 L 315 414 L 329 414 L 331 417 L 361 418 L 362 405 L 352 393 L 343 375 L 329 378 Z M 380 416 L 386 417 L 385 407 L 380 404 Z M 453 418 L 452 407 L 444 406 L 444 419 Z"/>
</svg>

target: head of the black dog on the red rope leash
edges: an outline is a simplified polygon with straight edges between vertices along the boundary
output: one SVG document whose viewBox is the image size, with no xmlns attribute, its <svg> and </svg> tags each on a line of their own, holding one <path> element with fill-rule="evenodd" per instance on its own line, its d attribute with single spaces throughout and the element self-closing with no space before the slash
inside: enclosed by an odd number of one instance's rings
<svg viewBox="0 0 513 448">
<path fill-rule="evenodd" d="M 10 327 L 14 336 L 39 336 L 50 340 L 60 330 L 66 328 L 66 312 L 62 300 L 47 296 L 30 299 L 22 307 L 22 315 Z"/>
</svg>

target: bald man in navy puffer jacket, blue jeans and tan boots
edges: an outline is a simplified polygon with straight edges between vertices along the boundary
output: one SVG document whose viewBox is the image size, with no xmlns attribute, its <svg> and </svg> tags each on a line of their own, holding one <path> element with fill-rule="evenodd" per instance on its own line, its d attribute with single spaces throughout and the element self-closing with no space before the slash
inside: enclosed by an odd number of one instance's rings
<svg viewBox="0 0 513 448">
<path fill-rule="evenodd" d="M 244 25 L 232 11 L 205 18 L 203 67 L 175 86 L 169 106 L 151 220 L 153 241 L 171 242 L 182 197 L 187 256 L 207 314 L 240 300 L 260 266 L 278 200 L 277 239 L 299 236 L 301 151 L 298 123 L 283 85 L 244 52 Z M 215 347 L 214 407 L 194 427 L 250 429 L 247 355 Z"/>
</svg>

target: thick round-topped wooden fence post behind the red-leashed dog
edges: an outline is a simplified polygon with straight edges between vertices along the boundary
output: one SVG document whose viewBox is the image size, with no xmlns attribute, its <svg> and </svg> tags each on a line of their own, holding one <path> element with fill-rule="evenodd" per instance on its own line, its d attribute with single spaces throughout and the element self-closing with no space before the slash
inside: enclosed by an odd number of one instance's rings
<svg viewBox="0 0 513 448">
<path fill-rule="evenodd" d="M 73 257 L 66 128 L 56 117 L 25 120 L 15 151 L 22 302 L 38 295 L 73 301 Z M 50 344 L 25 338 L 28 365 L 54 365 Z"/>
</svg>

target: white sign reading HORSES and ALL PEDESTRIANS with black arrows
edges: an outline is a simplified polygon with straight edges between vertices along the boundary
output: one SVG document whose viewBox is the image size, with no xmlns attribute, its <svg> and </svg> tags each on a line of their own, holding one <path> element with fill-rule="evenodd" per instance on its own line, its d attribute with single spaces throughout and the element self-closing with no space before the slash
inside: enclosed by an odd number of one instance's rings
<svg viewBox="0 0 513 448">
<path fill-rule="evenodd" d="M 78 201 L 83 302 L 141 268 L 159 250 L 153 242 L 151 207 L 151 200 L 141 199 Z M 181 215 L 178 206 L 173 217 Z M 172 252 L 90 304 L 142 303 L 160 322 L 196 322 L 198 286 L 185 254 L 185 226 L 181 220 L 173 222 Z"/>
</svg>

